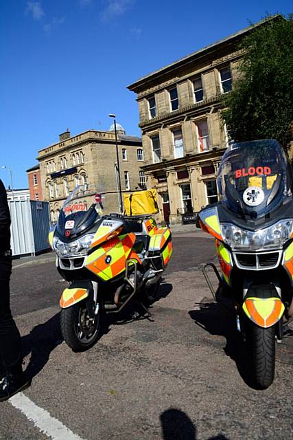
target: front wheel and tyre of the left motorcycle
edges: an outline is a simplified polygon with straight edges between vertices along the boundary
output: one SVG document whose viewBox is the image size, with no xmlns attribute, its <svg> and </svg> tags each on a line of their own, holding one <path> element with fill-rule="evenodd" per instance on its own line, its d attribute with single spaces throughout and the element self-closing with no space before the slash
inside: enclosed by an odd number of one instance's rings
<svg viewBox="0 0 293 440">
<path fill-rule="evenodd" d="M 62 337 L 73 351 L 85 351 L 92 347 L 99 338 L 101 325 L 101 311 L 90 318 L 85 301 L 61 310 Z"/>
</svg>

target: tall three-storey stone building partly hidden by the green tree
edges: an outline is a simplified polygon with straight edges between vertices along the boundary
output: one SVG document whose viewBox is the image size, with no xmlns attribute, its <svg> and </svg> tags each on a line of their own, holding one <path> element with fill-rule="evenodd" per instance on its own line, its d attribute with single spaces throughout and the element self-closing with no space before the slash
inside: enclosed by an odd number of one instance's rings
<svg viewBox="0 0 293 440">
<path fill-rule="evenodd" d="M 258 25 L 261 25 L 259 23 Z M 218 200 L 216 175 L 230 142 L 221 96 L 231 91 L 246 28 L 137 80 L 148 188 L 159 192 L 161 219 L 181 221 Z"/>
</svg>

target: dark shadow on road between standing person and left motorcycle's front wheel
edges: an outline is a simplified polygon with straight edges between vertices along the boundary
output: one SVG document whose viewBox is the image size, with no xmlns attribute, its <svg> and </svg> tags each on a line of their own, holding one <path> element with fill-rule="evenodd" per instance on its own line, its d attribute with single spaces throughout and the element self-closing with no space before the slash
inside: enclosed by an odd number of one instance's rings
<svg viewBox="0 0 293 440">
<path fill-rule="evenodd" d="M 43 369 L 49 355 L 63 342 L 60 331 L 60 312 L 43 324 L 36 325 L 32 331 L 21 338 L 23 356 L 31 353 L 30 362 L 25 373 L 32 380 Z"/>
</svg>

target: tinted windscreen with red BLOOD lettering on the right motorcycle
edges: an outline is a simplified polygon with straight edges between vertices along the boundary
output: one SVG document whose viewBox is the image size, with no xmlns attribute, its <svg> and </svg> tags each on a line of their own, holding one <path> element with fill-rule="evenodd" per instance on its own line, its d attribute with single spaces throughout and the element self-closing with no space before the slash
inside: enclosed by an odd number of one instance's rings
<svg viewBox="0 0 293 440">
<path fill-rule="evenodd" d="M 229 147 L 218 173 L 222 202 L 242 214 L 264 215 L 290 194 L 290 165 L 275 140 Z"/>
</svg>

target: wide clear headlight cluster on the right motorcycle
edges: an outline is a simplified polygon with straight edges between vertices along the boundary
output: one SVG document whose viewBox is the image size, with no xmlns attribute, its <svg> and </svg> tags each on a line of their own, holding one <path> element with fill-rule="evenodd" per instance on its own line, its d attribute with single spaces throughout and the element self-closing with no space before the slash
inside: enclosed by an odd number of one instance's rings
<svg viewBox="0 0 293 440">
<path fill-rule="evenodd" d="M 222 223 L 222 237 L 232 250 L 261 250 L 279 248 L 290 239 L 293 220 L 277 221 L 269 228 L 248 231 L 231 223 Z"/>
</svg>

